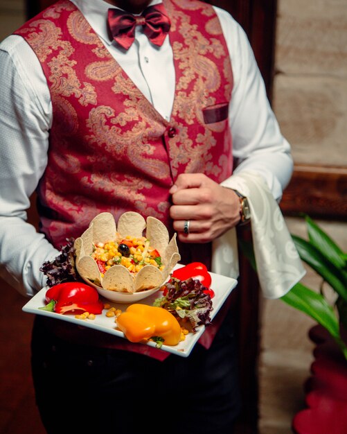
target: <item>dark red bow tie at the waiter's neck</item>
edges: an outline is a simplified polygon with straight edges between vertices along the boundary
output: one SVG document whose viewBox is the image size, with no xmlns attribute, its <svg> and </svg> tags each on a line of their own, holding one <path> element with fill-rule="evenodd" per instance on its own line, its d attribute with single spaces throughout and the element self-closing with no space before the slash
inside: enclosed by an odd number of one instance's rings
<svg viewBox="0 0 347 434">
<path fill-rule="evenodd" d="M 162 3 L 150 6 L 139 16 L 119 9 L 109 9 L 108 23 L 114 40 L 126 50 L 134 42 L 136 26 L 143 26 L 143 31 L 152 44 L 161 46 L 171 25 Z"/>
</svg>

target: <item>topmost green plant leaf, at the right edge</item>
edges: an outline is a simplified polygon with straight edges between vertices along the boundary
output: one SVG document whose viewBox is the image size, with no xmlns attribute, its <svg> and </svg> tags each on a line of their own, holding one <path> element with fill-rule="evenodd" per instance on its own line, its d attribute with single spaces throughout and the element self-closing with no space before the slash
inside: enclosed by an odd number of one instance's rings
<svg viewBox="0 0 347 434">
<path fill-rule="evenodd" d="M 312 218 L 305 216 L 308 227 L 308 238 L 310 243 L 323 254 L 328 261 L 332 262 L 337 268 L 341 269 L 346 266 L 344 252 L 339 248 L 339 245 L 328 236 L 326 232 L 314 223 Z"/>
</svg>

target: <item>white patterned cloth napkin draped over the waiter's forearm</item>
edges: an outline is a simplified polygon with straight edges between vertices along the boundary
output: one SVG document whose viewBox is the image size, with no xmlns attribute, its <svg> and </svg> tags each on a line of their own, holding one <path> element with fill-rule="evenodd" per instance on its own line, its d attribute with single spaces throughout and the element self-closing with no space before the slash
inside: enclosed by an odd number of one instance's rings
<svg viewBox="0 0 347 434">
<path fill-rule="evenodd" d="M 251 171 L 222 183 L 249 200 L 251 233 L 260 288 L 266 298 L 285 295 L 305 275 L 285 219 L 263 177 Z M 235 228 L 213 241 L 212 272 L 236 279 L 239 275 Z"/>
</svg>

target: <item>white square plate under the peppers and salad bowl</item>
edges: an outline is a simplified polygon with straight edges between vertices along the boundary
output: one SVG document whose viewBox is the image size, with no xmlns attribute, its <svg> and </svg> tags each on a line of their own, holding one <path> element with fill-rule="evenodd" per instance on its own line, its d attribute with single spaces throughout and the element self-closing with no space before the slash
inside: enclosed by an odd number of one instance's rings
<svg viewBox="0 0 347 434">
<path fill-rule="evenodd" d="M 215 296 L 212 299 L 213 311 L 211 311 L 211 320 L 215 317 L 217 312 L 222 307 L 222 304 L 225 302 L 228 295 L 231 293 L 231 290 L 235 288 L 238 281 L 235 279 L 231 279 L 230 277 L 225 277 L 221 275 L 216 275 L 211 272 L 212 284 L 211 289 L 214 290 Z M 34 297 L 32 297 L 28 303 L 23 306 L 23 311 L 28 313 L 34 313 L 36 315 L 44 315 L 51 318 L 56 318 L 58 320 L 72 322 L 73 324 L 83 325 L 83 327 L 90 327 L 91 329 L 96 329 L 98 331 L 104 331 L 105 333 L 110 333 L 116 336 L 120 336 L 121 338 L 125 338 L 123 331 L 116 329 L 116 324 L 113 318 L 108 318 L 106 316 L 106 312 L 108 309 L 104 309 L 103 313 L 100 315 L 96 315 L 95 320 L 78 320 L 75 318 L 73 314 L 64 314 L 42 311 L 39 308 L 45 306 L 44 295 L 46 294 L 46 290 L 48 288 L 42 288 Z M 157 293 L 150 295 L 147 298 L 144 298 L 140 301 L 143 304 L 152 305 L 154 300 L 158 297 L 162 297 L 162 293 L 159 290 Z M 110 302 L 109 300 L 103 299 L 103 302 L 110 304 L 111 306 L 116 307 L 116 309 L 121 309 L 121 311 L 125 311 L 129 304 L 117 304 Z M 194 345 L 196 344 L 199 337 L 204 333 L 205 326 L 197 327 L 197 331 L 195 333 L 188 333 L 186 339 L 182 342 L 179 342 L 178 345 L 170 346 L 170 345 L 162 345 L 161 349 L 163 351 L 168 351 L 172 354 L 177 354 L 177 356 L 187 357 L 192 351 Z M 126 338 L 125 338 L 126 339 Z M 146 341 L 141 342 L 139 345 L 150 345 L 151 347 L 155 347 L 155 342 Z"/>
</svg>

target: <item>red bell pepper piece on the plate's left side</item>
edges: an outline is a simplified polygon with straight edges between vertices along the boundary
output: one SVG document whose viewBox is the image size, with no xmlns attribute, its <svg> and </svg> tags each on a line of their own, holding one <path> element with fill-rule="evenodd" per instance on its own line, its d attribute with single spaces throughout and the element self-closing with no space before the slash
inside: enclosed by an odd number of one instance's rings
<svg viewBox="0 0 347 434">
<path fill-rule="evenodd" d="M 78 281 L 52 286 L 46 291 L 44 311 L 66 313 L 84 311 L 98 315 L 104 309 L 98 291 L 93 286 Z"/>
</svg>

